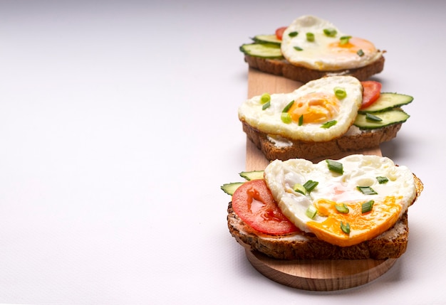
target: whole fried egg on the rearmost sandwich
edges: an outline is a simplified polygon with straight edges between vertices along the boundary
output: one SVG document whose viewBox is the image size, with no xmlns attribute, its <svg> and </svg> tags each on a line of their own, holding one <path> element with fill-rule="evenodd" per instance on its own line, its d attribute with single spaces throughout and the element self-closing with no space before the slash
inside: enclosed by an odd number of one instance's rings
<svg viewBox="0 0 446 305">
<path fill-rule="evenodd" d="M 382 55 L 370 41 L 315 16 L 301 16 L 286 28 L 281 53 L 294 65 L 323 71 L 361 68 Z"/>
</svg>

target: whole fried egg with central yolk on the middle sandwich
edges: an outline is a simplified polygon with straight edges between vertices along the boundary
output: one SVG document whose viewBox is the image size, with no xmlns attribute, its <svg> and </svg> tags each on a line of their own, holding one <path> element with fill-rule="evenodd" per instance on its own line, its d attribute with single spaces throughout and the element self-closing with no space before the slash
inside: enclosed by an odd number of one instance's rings
<svg viewBox="0 0 446 305">
<path fill-rule="evenodd" d="M 348 131 L 362 99 L 363 87 L 356 77 L 323 77 L 294 92 L 269 95 L 267 102 L 261 95 L 252 97 L 240 105 L 239 119 L 260 132 L 286 139 L 329 141 Z"/>
</svg>

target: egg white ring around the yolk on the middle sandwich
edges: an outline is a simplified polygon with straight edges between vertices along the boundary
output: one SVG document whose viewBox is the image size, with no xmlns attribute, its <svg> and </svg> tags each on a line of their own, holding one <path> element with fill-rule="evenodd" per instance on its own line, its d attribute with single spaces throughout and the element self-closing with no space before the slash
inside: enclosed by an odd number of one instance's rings
<svg viewBox="0 0 446 305">
<path fill-rule="evenodd" d="M 335 87 L 343 87 L 346 97 L 339 100 L 340 109 L 333 119 L 337 123 L 326 129 L 320 123 L 302 124 L 296 122 L 286 124 L 281 121 L 281 112 L 292 100 L 312 92 L 326 92 L 333 95 Z M 363 87 L 361 82 L 352 76 L 330 76 L 312 80 L 289 93 L 271 95 L 270 107 L 262 109 L 261 96 L 246 100 L 239 107 L 239 119 L 249 126 L 266 134 L 281 136 L 291 140 L 329 141 L 341 137 L 351 127 L 361 107 Z"/>
</svg>

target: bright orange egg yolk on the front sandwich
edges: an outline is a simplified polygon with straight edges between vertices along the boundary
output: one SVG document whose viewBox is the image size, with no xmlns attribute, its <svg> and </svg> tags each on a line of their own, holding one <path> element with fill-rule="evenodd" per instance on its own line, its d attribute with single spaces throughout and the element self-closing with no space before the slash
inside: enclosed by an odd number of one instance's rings
<svg viewBox="0 0 446 305">
<path fill-rule="evenodd" d="M 333 245 L 347 247 L 356 245 L 365 240 L 370 240 L 392 228 L 400 217 L 403 200 L 402 196 L 387 196 L 375 200 L 373 208 L 368 213 L 362 213 L 362 202 L 336 203 L 328 199 L 316 200 L 313 204 L 318 209 L 319 215 L 326 216 L 322 222 L 309 221 L 308 228 L 319 239 L 330 242 Z M 340 213 L 336 205 L 345 204 L 348 213 Z M 341 229 L 343 225 L 350 226 L 350 232 Z"/>
</svg>

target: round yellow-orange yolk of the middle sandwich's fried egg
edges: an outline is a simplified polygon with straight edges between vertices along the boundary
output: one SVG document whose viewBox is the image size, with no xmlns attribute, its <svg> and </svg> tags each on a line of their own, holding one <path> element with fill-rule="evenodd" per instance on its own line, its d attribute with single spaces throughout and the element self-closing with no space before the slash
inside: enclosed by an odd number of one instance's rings
<svg viewBox="0 0 446 305">
<path fill-rule="evenodd" d="M 288 113 L 293 122 L 299 122 L 303 117 L 303 123 L 328 122 L 339 112 L 339 101 L 333 94 L 326 92 L 312 92 L 294 100 Z"/>
</svg>

